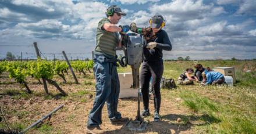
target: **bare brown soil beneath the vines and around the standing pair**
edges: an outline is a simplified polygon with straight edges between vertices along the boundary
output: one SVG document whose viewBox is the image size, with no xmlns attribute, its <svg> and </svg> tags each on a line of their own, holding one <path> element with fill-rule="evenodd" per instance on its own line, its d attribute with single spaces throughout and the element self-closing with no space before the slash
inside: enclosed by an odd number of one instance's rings
<svg viewBox="0 0 256 134">
<path fill-rule="evenodd" d="M 87 117 L 93 106 L 95 93 L 86 89 L 94 90 L 95 81 L 93 73 L 87 73 L 86 76 L 78 73 L 76 75 L 80 84 L 74 84 L 70 73 L 66 75 L 67 84 L 63 84 L 62 79 L 57 75 L 54 76 L 54 80 L 69 94 L 69 96 L 61 96 L 56 88 L 49 84 L 48 89 L 51 95 L 45 95 L 43 85 L 34 78 L 27 79 L 30 89 L 33 90 L 33 95 L 28 95 L 20 84 L 8 78 L 8 73 L 1 74 L 0 105 L 10 126 L 13 129 L 24 129 L 55 107 L 65 104 L 61 110 L 52 115 L 49 121 L 30 129 L 27 133 L 86 133 Z M 203 128 L 198 131 L 198 127 L 209 125 L 209 122 L 201 119 L 205 115 L 184 106 L 183 100 L 177 95 L 177 92 L 183 89 L 207 96 L 217 103 L 230 103 L 230 98 L 237 96 L 235 93 L 223 93 L 223 90 L 229 90 L 225 87 L 209 90 L 199 84 L 179 86 L 173 90 L 161 89 L 161 121 L 153 121 L 154 101 L 152 99 L 150 99 L 151 116 L 144 118 L 149 124 L 142 132 L 130 131 L 125 128 L 125 124 L 112 125 L 105 105 L 102 110 L 102 133 L 207 133 Z M 142 106 L 143 102 L 140 110 L 143 110 Z M 119 99 L 118 110 L 123 117 L 134 119 L 137 115 L 137 99 Z M 6 129 L 3 121 L 0 123 L 0 129 Z"/>
</svg>

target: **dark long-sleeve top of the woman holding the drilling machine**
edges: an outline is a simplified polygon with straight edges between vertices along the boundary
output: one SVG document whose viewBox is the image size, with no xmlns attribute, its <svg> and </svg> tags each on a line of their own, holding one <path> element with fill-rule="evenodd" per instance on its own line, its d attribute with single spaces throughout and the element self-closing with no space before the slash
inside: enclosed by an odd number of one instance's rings
<svg viewBox="0 0 256 134">
<path fill-rule="evenodd" d="M 168 34 L 164 30 L 159 30 L 157 33 L 156 41 L 157 46 L 153 49 L 143 48 L 143 60 L 145 61 L 161 61 L 163 57 L 163 50 L 172 50 L 172 44 Z M 147 42 L 149 43 L 149 42 Z"/>
</svg>

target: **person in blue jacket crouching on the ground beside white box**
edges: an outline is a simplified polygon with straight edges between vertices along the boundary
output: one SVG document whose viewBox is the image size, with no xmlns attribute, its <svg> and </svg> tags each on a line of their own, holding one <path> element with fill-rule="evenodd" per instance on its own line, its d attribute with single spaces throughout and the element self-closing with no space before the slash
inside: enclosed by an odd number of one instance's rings
<svg viewBox="0 0 256 134">
<path fill-rule="evenodd" d="M 203 81 L 201 85 L 220 85 L 225 82 L 224 75 L 216 71 L 205 70 L 202 73 Z"/>
</svg>

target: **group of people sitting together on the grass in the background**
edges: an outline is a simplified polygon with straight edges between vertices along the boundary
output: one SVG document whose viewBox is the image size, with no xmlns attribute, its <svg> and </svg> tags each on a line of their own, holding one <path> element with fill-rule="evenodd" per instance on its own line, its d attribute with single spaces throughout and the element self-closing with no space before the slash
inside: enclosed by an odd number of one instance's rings
<svg viewBox="0 0 256 134">
<path fill-rule="evenodd" d="M 211 68 L 202 67 L 201 64 L 196 64 L 195 72 L 193 68 L 187 68 L 182 74 L 180 74 L 177 84 L 178 85 L 190 85 L 195 82 L 201 82 L 201 85 L 216 85 L 223 84 L 225 82 L 224 75 L 212 70 Z"/>
</svg>

